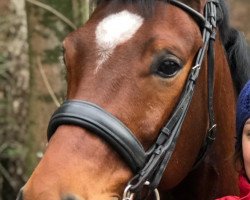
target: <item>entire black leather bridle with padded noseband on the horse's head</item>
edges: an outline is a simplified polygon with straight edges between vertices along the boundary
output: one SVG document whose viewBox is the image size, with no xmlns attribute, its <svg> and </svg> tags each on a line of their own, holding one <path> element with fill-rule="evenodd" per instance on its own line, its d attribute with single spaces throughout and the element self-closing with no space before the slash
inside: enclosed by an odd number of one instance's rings
<svg viewBox="0 0 250 200">
<path fill-rule="evenodd" d="M 204 56 L 208 54 L 208 115 L 209 130 L 200 151 L 197 163 L 207 154 L 215 140 L 215 120 L 213 112 L 213 82 L 214 82 L 214 51 L 213 43 L 216 35 L 220 8 L 219 0 L 208 0 L 205 5 L 204 16 L 178 0 L 169 0 L 169 3 L 186 11 L 198 23 L 203 37 L 203 46 L 197 53 L 197 58 L 187 79 L 180 101 L 173 115 L 162 128 L 155 144 L 145 151 L 134 134 L 117 118 L 99 106 L 80 100 L 67 100 L 51 117 L 48 126 L 48 140 L 58 126 L 63 124 L 76 125 L 86 128 L 108 142 L 127 162 L 135 176 L 128 183 L 125 199 L 134 199 L 140 196 L 145 184 L 150 190 L 155 190 L 160 183 L 188 111 L 195 83 L 199 76 Z M 195 165 L 197 164 L 195 163 Z M 135 195 L 136 194 L 136 195 Z"/>
</svg>

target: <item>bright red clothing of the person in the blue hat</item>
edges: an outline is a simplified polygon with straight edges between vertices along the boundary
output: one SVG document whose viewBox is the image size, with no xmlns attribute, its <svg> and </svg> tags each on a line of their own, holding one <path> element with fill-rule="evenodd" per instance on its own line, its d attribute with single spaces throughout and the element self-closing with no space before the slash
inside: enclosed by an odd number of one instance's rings
<svg viewBox="0 0 250 200">
<path fill-rule="evenodd" d="M 245 176 L 239 177 L 240 196 L 225 196 L 216 200 L 250 200 L 250 183 Z"/>
</svg>

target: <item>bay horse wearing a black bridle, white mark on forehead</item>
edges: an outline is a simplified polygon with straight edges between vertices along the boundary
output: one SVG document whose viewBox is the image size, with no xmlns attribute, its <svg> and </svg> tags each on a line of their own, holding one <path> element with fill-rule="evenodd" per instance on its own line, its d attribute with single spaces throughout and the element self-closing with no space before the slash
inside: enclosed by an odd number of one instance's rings
<svg viewBox="0 0 250 200">
<path fill-rule="evenodd" d="M 67 100 L 18 199 L 238 193 L 235 100 L 249 62 L 223 0 L 100 0 L 63 48 Z"/>
</svg>

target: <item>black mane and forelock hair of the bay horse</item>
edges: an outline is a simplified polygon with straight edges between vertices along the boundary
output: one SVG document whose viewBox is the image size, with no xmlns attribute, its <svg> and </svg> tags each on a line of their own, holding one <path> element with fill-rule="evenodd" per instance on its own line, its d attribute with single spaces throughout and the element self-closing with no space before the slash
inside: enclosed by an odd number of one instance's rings
<svg viewBox="0 0 250 200">
<path fill-rule="evenodd" d="M 109 0 L 94 0 L 102 3 Z M 135 4 L 141 9 L 142 15 L 148 17 L 154 12 L 156 0 L 113 0 L 127 4 Z M 169 0 L 162 0 L 168 2 Z M 180 0 L 184 3 L 191 4 L 190 0 Z M 193 1 L 194 2 L 194 1 Z M 250 79 L 250 48 L 246 39 L 240 31 L 231 27 L 229 23 L 229 12 L 225 0 L 220 0 L 222 20 L 219 22 L 220 36 L 227 53 L 230 64 L 231 75 L 235 84 L 237 93 L 243 88 L 244 84 Z M 190 5 L 191 6 L 191 5 Z M 192 7 L 195 7 L 193 3 Z"/>
</svg>

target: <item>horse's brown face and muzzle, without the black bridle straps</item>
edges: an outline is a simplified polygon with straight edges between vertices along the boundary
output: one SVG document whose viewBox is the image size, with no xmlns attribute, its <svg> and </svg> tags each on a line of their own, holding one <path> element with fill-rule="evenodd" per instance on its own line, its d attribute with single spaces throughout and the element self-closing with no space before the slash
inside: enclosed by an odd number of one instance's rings
<svg viewBox="0 0 250 200">
<path fill-rule="evenodd" d="M 101 106 L 145 148 L 171 115 L 202 45 L 199 27 L 188 14 L 160 1 L 155 4 L 149 17 L 117 1 L 100 5 L 63 43 L 67 98 Z M 169 168 L 178 167 L 170 162 Z M 168 187 L 179 181 L 173 181 L 177 174 L 167 173 Z M 131 176 L 127 164 L 101 138 L 76 126 L 60 126 L 24 187 L 24 199 L 63 199 L 68 194 L 117 199 Z"/>
</svg>

